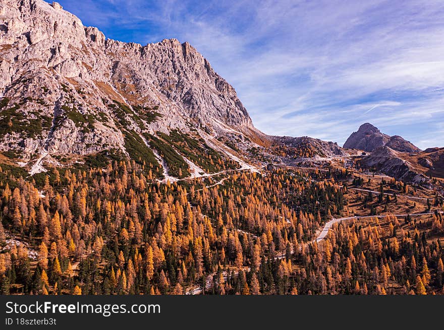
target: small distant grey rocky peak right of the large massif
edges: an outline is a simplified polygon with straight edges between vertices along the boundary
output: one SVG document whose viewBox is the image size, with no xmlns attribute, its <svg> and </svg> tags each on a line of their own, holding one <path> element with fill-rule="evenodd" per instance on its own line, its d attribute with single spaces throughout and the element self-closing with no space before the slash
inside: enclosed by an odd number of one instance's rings
<svg viewBox="0 0 444 330">
<path fill-rule="evenodd" d="M 370 123 L 362 124 L 357 132 L 353 132 L 344 143 L 344 148 L 373 151 L 373 149 L 384 145 L 402 152 L 421 151 L 401 136 L 384 134 Z"/>
</svg>

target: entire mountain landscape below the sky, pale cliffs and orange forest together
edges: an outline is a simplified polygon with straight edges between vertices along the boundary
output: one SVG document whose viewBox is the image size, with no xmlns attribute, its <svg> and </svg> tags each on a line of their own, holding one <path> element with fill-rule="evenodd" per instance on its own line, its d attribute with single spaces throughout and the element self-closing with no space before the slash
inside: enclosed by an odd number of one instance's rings
<svg viewBox="0 0 444 330">
<path fill-rule="evenodd" d="M 188 42 L 42 0 L 0 77 L 3 294 L 444 293 L 444 148 L 266 135 Z"/>
</svg>

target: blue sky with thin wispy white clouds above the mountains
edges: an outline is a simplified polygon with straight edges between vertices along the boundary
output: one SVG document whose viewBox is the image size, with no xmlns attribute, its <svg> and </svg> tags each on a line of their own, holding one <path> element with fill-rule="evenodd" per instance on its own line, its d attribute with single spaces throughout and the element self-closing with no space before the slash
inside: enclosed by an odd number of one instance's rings
<svg viewBox="0 0 444 330">
<path fill-rule="evenodd" d="M 107 38 L 188 41 L 267 134 L 342 145 L 370 122 L 444 146 L 442 1 L 59 2 Z"/>
</svg>

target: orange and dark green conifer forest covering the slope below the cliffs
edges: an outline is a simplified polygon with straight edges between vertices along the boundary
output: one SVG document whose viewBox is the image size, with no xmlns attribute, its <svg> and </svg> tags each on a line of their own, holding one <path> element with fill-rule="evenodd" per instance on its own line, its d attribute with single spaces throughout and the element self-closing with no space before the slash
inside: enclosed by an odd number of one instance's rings
<svg viewBox="0 0 444 330">
<path fill-rule="evenodd" d="M 313 241 L 350 212 L 341 176 L 273 169 L 160 183 L 113 160 L 25 180 L 2 165 L 2 293 L 442 293 L 439 212 L 341 222 Z"/>
</svg>

